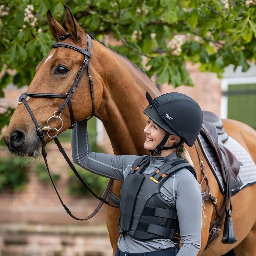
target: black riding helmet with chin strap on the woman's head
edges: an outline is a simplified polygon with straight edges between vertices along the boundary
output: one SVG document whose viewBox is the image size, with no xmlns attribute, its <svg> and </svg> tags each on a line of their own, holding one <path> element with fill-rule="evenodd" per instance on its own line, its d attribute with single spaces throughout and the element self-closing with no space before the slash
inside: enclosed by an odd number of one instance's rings
<svg viewBox="0 0 256 256">
<path fill-rule="evenodd" d="M 166 132 L 151 152 L 161 154 L 162 150 L 178 148 L 184 142 L 192 147 L 203 124 L 203 113 L 196 101 L 180 92 L 165 93 L 154 100 L 146 92 L 146 98 L 149 105 L 143 112 Z M 181 141 L 174 147 L 164 147 L 170 134 L 180 136 Z"/>
</svg>

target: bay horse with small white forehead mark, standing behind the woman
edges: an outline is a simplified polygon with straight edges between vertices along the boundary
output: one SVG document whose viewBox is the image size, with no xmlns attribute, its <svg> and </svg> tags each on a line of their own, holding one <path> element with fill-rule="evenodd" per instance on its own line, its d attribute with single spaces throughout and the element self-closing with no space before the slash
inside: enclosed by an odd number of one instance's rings
<svg viewBox="0 0 256 256">
<path fill-rule="evenodd" d="M 62 42 L 86 48 L 87 36 L 74 19 L 71 11 L 65 6 L 66 26 L 71 36 L 66 30 L 54 20 L 50 11 L 47 13 L 47 22 L 53 38 L 58 42 L 60 36 L 64 36 Z M 63 38 L 63 37 L 62 37 Z M 143 114 L 148 102 L 145 92 L 149 92 L 153 98 L 160 95 L 155 84 L 146 76 L 140 68 L 124 56 L 110 50 L 97 40 L 92 40 L 91 48 L 91 76 L 94 81 L 95 116 L 99 118 L 108 133 L 114 153 L 116 155 L 145 155 L 147 150 L 143 148 L 143 129 L 147 122 L 146 115 Z M 36 67 L 36 74 L 27 92 L 36 93 L 66 93 L 73 84 L 78 69 L 83 62 L 82 54 L 66 49 L 54 48 L 45 59 Z M 67 72 L 64 75 L 56 72 L 57 67 L 65 67 Z M 60 98 L 30 98 L 28 105 L 31 108 L 38 124 L 43 127 L 52 113 L 54 113 L 63 99 Z M 92 113 L 92 99 L 89 88 L 88 76 L 83 76 L 79 86 L 72 98 L 72 108 L 75 122 L 79 122 L 89 117 Z M 62 111 L 64 132 L 70 126 L 70 116 L 68 106 Z M 51 120 L 53 127 L 60 127 L 58 118 Z M 250 126 L 241 122 L 225 119 L 224 127 L 229 136 L 238 141 L 251 155 L 256 162 L 256 131 Z M 15 136 L 13 137 L 13 134 Z M 9 150 L 19 156 L 39 157 L 42 144 L 38 138 L 35 124 L 31 119 L 24 104 L 20 104 L 14 111 L 10 124 L 4 134 L 4 140 L 10 143 L 10 137 L 19 143 L 18 146 L 9 147 Z M 44 133 L 45 142 L 52 138 Z M 202 179 L 200 162 L 195 146 L 187 148 L 193 160 L 198 175 L 198 180 Z M 204 163 L 206 160 L 199 148 Z M 208 175 L 211 193 L 219 202 L 223 196 L 218 183 L 208 165 L 205 165 Z M 119 196 L 122 182 L 115 180 L 111 191 Z M 206 186 L 203 183 L 202 191 Z M 220 234 L 213 245 L 207 249 L 204 255 L 220 256 L 234 248 L 237 256 L 256 255 L 256 185 L 248 186 L 232 197 L 233 222 L 237 242 L 235 244 L 222 244 Z M 108 205 L 105 207 L 107 227 L 110 242 L 113 247 L 113 255 L 117 248 L 118 240 L 118 219 L 119 210 Z M 205 224 L 202 227 L 201 255 L 207 243 L 210 221 L 216 216 L 211 202 L 205 203 L 204 212 L 206 214 Z M 223 227 L 222 227 L 223 230 Z"/>
</svg>

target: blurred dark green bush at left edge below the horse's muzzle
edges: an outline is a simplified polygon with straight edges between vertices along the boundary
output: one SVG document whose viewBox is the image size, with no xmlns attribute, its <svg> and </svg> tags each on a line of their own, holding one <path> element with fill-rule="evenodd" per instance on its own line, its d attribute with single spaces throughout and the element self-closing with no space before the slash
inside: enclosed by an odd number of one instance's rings
<svg viewBox="0 0 256 256">
<path fill-rule="evenodd" d="M 19 191 L 28 183 L 24 160 L 18 157 L 0 159 L 0 191 L 3 188 Z"/>
</svg>

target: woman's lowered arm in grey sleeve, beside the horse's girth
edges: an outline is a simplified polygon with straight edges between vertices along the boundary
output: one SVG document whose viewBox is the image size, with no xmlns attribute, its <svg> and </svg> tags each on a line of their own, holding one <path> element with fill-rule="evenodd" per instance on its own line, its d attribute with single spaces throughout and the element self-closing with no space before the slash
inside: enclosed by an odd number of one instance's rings
<svg viewBox="0 0 256 256">
<path fill-rule="evenodd" d="M 177 256 L 196 256 L 201 248 L 201 187 L 187 169 L 175 173 L 175 203 L 182 246 Z"/>
</svg>

